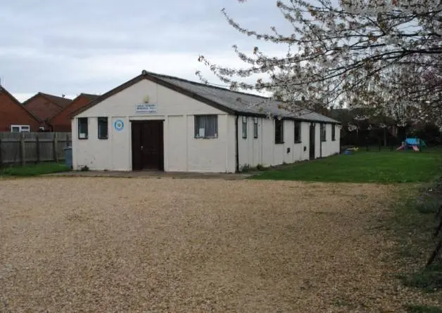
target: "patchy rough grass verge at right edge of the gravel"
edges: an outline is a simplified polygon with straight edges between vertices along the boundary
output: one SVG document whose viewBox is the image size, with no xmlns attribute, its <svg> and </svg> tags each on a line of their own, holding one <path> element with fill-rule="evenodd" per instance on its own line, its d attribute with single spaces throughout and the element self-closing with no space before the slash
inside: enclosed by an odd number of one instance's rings
<svg viewBox="0 0 442 313">
<path fill-rule="evenodd" d="M 404 185 L 400 196 L 391 223 L 391 231 L 399 243 L 398 262 L 404 269 L 399 278 L 405 286 L 440 297 L 442 260 L 436 258 L 429 267 L 425 265 L 436 247 L 435 242 L 442 235 L 432 239 L 439 223 L 436 213 L 442 204 L 442 177 L 420 188 L 417 185 Z M 408 312 L 442 313 L 442 307 L 434 306 L 411 305 L 406 309 Z"/>
</svg>

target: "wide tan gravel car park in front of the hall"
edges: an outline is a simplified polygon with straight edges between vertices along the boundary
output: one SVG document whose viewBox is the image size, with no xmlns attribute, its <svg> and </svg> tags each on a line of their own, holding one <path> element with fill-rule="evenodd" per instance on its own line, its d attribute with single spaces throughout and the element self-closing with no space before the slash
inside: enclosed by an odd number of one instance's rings
<svg viewBox="0 0 442 313">
<path fill-rule="evenodd" d="M 403 312 L 392 188 L 0 180 L 0 312 Z"/>
</svg>

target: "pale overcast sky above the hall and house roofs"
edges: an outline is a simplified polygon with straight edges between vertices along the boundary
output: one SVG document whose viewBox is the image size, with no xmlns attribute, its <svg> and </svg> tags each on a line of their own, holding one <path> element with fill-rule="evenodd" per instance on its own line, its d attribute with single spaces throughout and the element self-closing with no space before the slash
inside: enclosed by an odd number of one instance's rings
<svg viewBox="0 0 442 313">
<path fill-rule="evenodd" d="M 227 23 L 223 7 L 253 29 L 286 26 L 276 0 L 2 1 L 1 83 L 20 101 L 39 91 L 105 93 L 142 69 L 191 80 L 201 70 L 222 84 L 198 55 L 241 66 L 232 45 L 252 51 L 258 44 Z M 265 48 L 286 52 L 284 46 Z"/>
</svg>

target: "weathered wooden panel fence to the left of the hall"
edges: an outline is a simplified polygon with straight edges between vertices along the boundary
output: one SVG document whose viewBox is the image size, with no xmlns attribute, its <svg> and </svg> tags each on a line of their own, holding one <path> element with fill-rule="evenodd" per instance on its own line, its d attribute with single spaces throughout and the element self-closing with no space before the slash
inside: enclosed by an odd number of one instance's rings
<svg viewBox="0 0 442 313">
<path fill-rule="evenodd" d="M 63 161 L 71 133 L 1 133 L 0 166 Z"/>
</svg>

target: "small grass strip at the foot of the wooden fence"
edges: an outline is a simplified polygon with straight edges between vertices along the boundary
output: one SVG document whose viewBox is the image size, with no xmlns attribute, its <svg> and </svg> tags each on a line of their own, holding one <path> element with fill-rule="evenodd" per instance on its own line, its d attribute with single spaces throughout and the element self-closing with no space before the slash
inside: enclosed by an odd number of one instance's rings
<svg viewBox="0 0 442 313">
<path fill-rule="evenodd" d="M 38 176 L 51 173 L 70 171 L 70 168 L 61 163 L 39 163 L 25 166 L 9 166 L 0 168 L 1 176 Z"/>
</svg>

